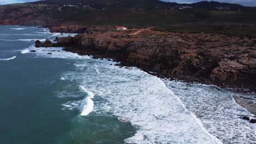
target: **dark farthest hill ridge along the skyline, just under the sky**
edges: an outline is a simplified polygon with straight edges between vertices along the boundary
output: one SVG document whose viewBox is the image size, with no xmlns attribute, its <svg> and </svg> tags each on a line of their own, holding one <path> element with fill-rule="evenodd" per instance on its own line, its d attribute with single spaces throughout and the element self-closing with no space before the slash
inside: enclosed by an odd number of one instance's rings
<svg viewBox="0 0 256 144">
<path fill-rule="evenodd" d="M 240 4 L 220 3 L 202 1 L 192 4 L 179 4 L 173 2 L 162 2 L 158 0 L 45 0 L 32 2 L 34 4 L 83 4 L 92 5 L 94 8 L 109 8 L 109 7 L 125 7 L 125 8 L 172 8 L 172 7 L 193 7 L 210 10 L 241 10 L 250 7 L 244 7 Z M 252 8 L 252 7 L 251 7 Z M 251 9 L 250 8 L 250 9 Z"/>
</svg>

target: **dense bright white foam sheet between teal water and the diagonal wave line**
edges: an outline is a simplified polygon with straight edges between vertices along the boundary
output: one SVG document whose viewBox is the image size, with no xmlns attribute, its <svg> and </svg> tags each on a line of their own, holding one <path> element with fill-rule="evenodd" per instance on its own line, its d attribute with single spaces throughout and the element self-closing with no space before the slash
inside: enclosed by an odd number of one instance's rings
<svg viewBox="0 0 256 144">
<path fill-rule="evenodd" d="M 104 73 L 98 75 L 95 67 L 90 67 L 95 63 Z M 113 113 L 119 120 L 131 122 L 137 131 L 127 143 L 221 143 L 160 79 L 110 63 L 88 59 L 76 64 L 80 69 L 75 73 L 65 75 L 68 80 L 82 80 L 82 85 L 90 86 L 97 95 L 94 101 L 86 97 L 81 115 L 93 110 L 97 115 Z"/>
</svg>

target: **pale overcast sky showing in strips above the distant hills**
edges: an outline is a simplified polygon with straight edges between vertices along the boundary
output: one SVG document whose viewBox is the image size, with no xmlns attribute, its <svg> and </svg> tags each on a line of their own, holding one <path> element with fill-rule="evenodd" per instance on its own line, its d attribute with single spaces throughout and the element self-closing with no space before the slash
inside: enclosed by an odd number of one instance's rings
<svg viewBox="0 0 256 144">
<path fill-rule="evenodd" d="M 32 2 L 36 0 L 0 0 L 0 4 L 9 4 L 9 3 L 22 3 L 22 2 Z M 129 0 L 127 0 L 129 1 Z M 200 2 L 202 0 L 162 0 L 167 2 L 177 2 L 177 3 L 194 3 Z M 246 6 L 256 6 L 256 0 L 215 0 L 218 2 L 227 2 L 227 3 L 238 3 Z"/>
</svg>

